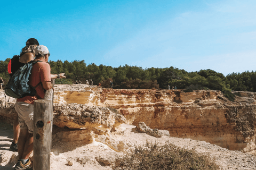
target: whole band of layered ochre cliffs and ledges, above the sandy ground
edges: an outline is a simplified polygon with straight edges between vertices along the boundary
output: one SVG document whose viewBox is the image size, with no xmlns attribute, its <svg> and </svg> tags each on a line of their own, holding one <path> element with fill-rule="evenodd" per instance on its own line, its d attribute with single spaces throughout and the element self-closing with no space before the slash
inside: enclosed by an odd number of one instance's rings
<svg viewBox="0 0 256 170">
<path fill-rule="evenodd" d="M 55 85 L 53 124 L 71 129 L 112 129 L 125 122 L 145 122 L 168 130 L 171 137 L 204 140 L 231 150 L 254 150 L 255 93 L 233 91 L 230 101 L 221 91 L 101 89 L 85 84 Z M 13 119 L 14 103 L 3 93 L 0 118 Z M 121 113 L 126 120 L 117 114 Z"/>
</svg>

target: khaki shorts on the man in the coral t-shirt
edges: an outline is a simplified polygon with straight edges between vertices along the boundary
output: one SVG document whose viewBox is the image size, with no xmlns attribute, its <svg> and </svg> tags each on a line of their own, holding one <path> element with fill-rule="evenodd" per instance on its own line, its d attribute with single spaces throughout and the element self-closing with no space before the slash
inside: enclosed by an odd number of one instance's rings
<svg viewBox="0 0 256 170">
<path fill-rule="evenodd" d="M 29 133 L 33 133 L 34 105 L 22 101 L 16 101 L 14 107 L 18 113 L 20 129 L 28 129 Z"/>
</svg>

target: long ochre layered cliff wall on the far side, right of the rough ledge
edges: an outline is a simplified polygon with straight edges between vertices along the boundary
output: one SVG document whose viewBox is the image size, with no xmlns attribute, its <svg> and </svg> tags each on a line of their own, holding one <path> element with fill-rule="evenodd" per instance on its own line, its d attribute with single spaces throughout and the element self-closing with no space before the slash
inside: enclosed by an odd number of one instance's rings
<svg viewBox="0 0 256 170">
<path fill-rule="evenodd" d="M 118 109 L 126 123 L 145 122 L 171 137 L 203 140 L 231 150 L 255 149 L 255 93 L 228 100 L 221 91 L 103 89 L 103 103 Z"/>
</svg>

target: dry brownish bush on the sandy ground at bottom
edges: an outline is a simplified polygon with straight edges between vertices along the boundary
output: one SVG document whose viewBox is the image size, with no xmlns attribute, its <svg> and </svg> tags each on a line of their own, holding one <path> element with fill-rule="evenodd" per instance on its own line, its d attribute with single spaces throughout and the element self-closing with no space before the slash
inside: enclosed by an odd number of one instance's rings
<svg viewBox="0 0 256 170">
<path fill-rule="evenodd" d="M 177 147 L 170 142 L 166 142 L 163 146 L 147 142 L 134 148 L 134 152 L 116 161 L 114 170 L 219 169 L 209 156 L 198 154 L 195 150 Z"/>
</svg>

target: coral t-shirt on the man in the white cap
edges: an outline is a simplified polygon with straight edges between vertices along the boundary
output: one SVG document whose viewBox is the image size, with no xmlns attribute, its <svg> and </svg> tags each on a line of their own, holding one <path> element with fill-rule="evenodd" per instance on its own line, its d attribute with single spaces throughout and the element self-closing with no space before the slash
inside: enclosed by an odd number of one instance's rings
<svg viewBox="0 0 256 170">
<path fill-rule="evenodd" d="M 50 81 L 51 82 L 51 67 L 48 63 L 38 62 L 33 65 L 31 74 L 29 77 L 29 84 L 35 87 L 39 82 Z M 37 96 L 44 98 L 44 88 L 41 83 L 36 87 Z M 37 96 L 25 96 L 17 99 L 17 101 L 23 101 L 25 103 L 34 104 L 34 100 L 40 99 Z"/>
</svg>

